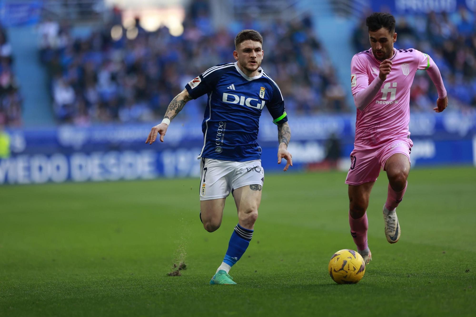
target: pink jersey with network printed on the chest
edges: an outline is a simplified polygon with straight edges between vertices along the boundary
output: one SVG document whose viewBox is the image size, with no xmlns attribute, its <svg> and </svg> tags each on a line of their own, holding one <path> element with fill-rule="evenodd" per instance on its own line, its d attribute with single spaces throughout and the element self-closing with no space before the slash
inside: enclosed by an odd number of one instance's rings
<svg viewBox="0 0 476 317">
<path fill-rule="evenodd" d="M 377 95 L 364 110 L 357 109 L 355 149 L 376 149 L 410 135 L 410 87 L 417 69 L 428 69 L 433 60 L 415 49 L 394 50 L 392 70 Z M 378 76 L 380 63 L 372 49 L 354 55 L 350 64 L 353 95 Z"/>
</svg>

